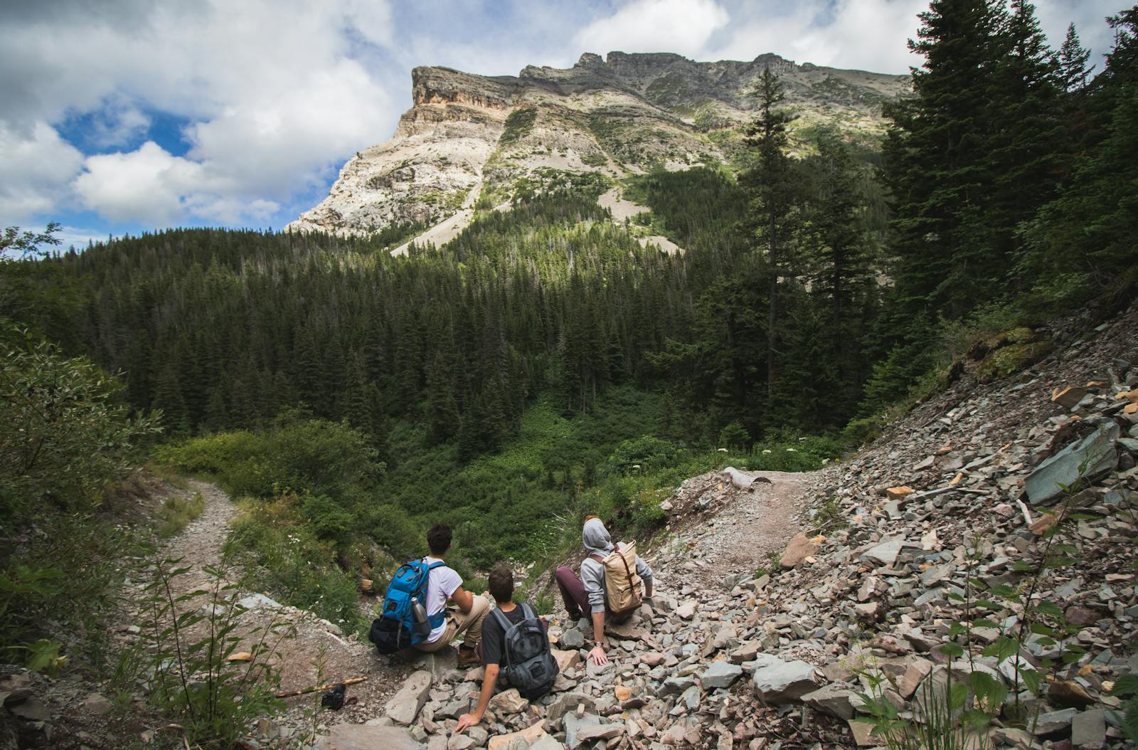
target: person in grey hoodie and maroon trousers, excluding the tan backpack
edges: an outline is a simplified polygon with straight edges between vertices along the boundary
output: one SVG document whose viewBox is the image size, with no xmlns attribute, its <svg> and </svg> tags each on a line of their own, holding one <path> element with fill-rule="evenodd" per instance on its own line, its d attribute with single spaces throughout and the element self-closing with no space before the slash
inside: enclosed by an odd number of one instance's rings
<svg viewBox="0 0 1138 750">
<path fill-rule="evenodd" d="M 580 561 L 580 578 L 572 569 L 561 566 L 556 571 L 558 587 L 561 590 L 561 597 L 566 603 L 566 611 L 571 619 L 579 619 L 584 612 L 588 612 L 593 621 L 593 641 L 595 645 L 588 652 L 588 658 L 595 665 L 609 662 L 604 656 L 604 564 L 601 563 L 613 550 L 612 538 L 609 529 L 604 528 L 595 516 L 585 518 L 585 527 L 580 533 L 582 543 L 585 545 L 587 557 Z M 624 543 L 619 543 L 619 549 L 624 550 Z M 600 559 L 597 559 L 600 558 Z M 652 596 L 652 568 L 646 562 L 636 557 L 636 575 L 644 582 L 644 597 Z"/>
</svg>

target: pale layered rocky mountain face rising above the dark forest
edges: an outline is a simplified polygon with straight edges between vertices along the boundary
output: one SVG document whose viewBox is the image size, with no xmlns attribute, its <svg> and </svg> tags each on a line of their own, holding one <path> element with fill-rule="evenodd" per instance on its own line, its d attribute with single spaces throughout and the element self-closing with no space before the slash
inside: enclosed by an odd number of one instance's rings
<svg viewBox="0 0 1138 750">
<path fill-rule="evenodd" d="M 391 139 L 349 159 L 329 196 L 288 228 L 361 233 L 436 224 L 469 213 L 479 198 L 498 205 L 521 186 L 541 189 L 571 174 L 619 179 L 654 165 L 729 165 L 767 66 L 780 74 L 798 127 L 828 123 L 853 139 L 879 137 L 881 102 L 908 89 L 908 76 L 795 65 L 776 55 L 698 63 L 662 52 L 586 52 L 571 68 L 529 66 L 517 76 L 419 67 L 413 106 Z"/>
</svg>

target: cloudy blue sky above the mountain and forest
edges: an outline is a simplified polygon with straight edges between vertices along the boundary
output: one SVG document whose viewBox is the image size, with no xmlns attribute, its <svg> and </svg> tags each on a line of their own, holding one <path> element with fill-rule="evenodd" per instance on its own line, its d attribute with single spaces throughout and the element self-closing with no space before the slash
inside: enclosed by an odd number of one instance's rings
<svg viewBox="0 0 1138 750">
<path fill-rule="evenodd" d="M 1120 0 L 1041 0 L 1095 61 Z M 8 0 L 0 7 L 0 226 L 63 239 L 279 228 L 390 137 L 411 68 L 516 74 L 582 52 L 776 52 L 905 73 L 927 0 Z M 1124 3 L 1123 3 L 1124 5 Z"/>
</svg>

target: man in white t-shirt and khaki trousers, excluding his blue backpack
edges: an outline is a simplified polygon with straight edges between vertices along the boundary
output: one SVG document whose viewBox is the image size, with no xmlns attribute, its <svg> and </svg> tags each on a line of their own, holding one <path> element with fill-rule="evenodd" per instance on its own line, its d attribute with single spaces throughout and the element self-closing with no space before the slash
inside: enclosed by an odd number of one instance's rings
<svg viewBox="0 0 1138 750">
<path fill-rule="evenodd" d="M 432 564 L 443 562 L 451 549 L 451 527 L 436 524 L 427 531 L 427 546 L 430 554 L 423 562 Z M 457 609 L 447 610 L 447 603 Z M 459 666 L 480 665 L 478 658 L 479 642 L 483 640 L 483 620 L 489 611 L 490 603 L 485 596 L 475 596 L 462 588 L 462 576 L 454 569 L 443 566 L 430 571 L 427 579 L 427 617 L 444 613 L 443 621 L 427 636 L 427 640 L 414 648 L 420 651 L 439 651 L 445 649 L 456 635 L 462 634 L 462 645 L 459 646 Z"/>
</svg>

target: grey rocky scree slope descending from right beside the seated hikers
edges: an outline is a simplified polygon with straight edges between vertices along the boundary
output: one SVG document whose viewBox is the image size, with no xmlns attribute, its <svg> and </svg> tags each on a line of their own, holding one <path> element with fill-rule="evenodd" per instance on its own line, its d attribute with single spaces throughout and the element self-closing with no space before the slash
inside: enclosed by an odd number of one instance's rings
<svg viewBox="0 0 1138 750">
<path fill-rule="evenodd" d="M 991 747 L 1125 747 L 1108 687 L 1138 670 L 1136 323 L 1131 310 L 1086 336 L 1074 332 L 1085 321 L 1038 331 L 1055 343 L 1053 354 L 984 382 L 1003 339 L 990 341 L 976 356 L 993 352 L 967 362 L 955 385 L 876 445 L 802 476 L 786 494 L 773 472 L 728 469 L 685 481 L 667 503 L 673 534 L 646 553 L 659 593 L 636 620 L 610 628 L 612 662 L 584 661 L 586 623 L 555 621 L 562 674 L 547 698 L 500 693 L 479 727 L 452 736 L 480 670 L 453 669 L 453 653 L 443 654 L 419 665 L 386 716 L 333 727 L 320 747 L 364 747 L 353 743 L 368 737 L 431 750 L 868 747 L 882 741 L 852 720 L 868 710 L 859 694 L 876 691 L 902 718 L 926 720 L 926 697 L 972 670 L 1009 689 L 986 730 Z M 1070 475 L 1072 462 L 1075 472 L 1089 467 L 1073 495 L 1041 484 Z M 743 566 L 737 553 L 770 511 L 757 498 L 772 492 L 792 506 L 806 501 L 800 533 L 770 562 L 759 549 L 769 539 L 756 538 Z M 1070 514 L 1062 522 L 1058 509 Z M 793 525 L 775 526 L 785 538 Z M 1048 543 L 1071 545 L 1073 560 L 1042 570 L 1032 586 Z M 995 626 L 964 637 L 953 625 L 966 619 L 956 595 L 970 599 L 970 577 L 1020 599 L 986 609 L 976 600 L 996 597 L 973 592 L 971 607 Z M 1045 602 L 1057 616 L 1040 612 Z M 1053 642 L 1029 629 L 1017 653 L 983 656 L 1028 616 L 1065 621 L 1070 633 Z M 971 658 L 942 653 L 949 641 Z M 1058 666 L 1045 668 L 1045 659 Z M 1047 673 L 1039 695 L 1024 685 L 1029 668 Z"/>
</svg>

